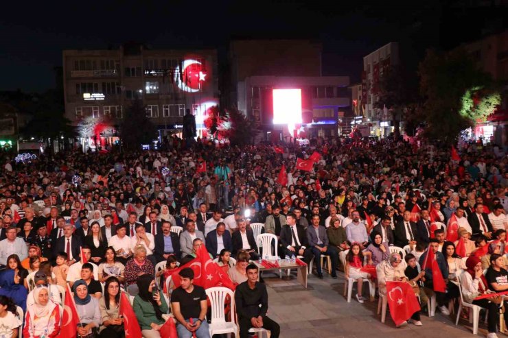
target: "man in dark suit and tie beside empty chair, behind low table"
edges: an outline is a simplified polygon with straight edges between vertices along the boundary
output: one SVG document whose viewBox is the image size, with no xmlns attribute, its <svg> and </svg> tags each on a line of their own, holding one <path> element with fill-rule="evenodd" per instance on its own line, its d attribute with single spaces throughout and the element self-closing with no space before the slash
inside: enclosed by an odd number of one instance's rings
<svg viewBox="0 0 508 338">
<path fill-rule="evenodd" d="M 312 251 L 308 248 L 307 236 L 303 227 L 297 226 L 297 216 L 289 213 L 288 218 L 291 219 L 291 225 L 286 224 L 281 228 L 281 245 L 282 251 L 280 256 L 303 256 L 303 261 L 309 265 L 312 257 Z"/>
</svg>

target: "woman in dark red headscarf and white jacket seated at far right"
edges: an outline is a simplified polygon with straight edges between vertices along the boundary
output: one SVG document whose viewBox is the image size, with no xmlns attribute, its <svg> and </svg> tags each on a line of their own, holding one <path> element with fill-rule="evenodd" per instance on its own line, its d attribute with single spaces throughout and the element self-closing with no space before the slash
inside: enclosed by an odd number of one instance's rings
<svg viewBox="0 0 508 338">
<path fill-rule="evenodd" d="M 478 305 L 488 310 L 487 326 L 489 333 L 487 338 L 497 337 L 497 322 L 499 316 L 499 308 L 503 305 L 503 298 L 493 296 L 475 300 L 478 295 L 483 295 L 489 290 L 487 279 L 483 276 L 482 263 L 480 258 L 469 256 L 465 261 L 467 270 L 461 274 L 462 297 L 465 302 Z M 505 311 L 505 322 L 508 322 L 508 311 Z"/>
</svg>

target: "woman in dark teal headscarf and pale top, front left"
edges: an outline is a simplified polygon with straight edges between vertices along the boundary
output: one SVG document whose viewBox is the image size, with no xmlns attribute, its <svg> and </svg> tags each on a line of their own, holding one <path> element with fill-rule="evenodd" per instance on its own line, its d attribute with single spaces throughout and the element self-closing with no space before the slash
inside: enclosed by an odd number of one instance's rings
<svg viewBox="0 0 508 338">
<path fill-rule="evenodd" d="M 74 302 L 80 317 L 78 324 L 78 335 L 83 338 L 95 337 L 95 332 L 100 326 L 100 308 L 97 298 L 88 293 L 88 285 L 82 279 L 76 280 L 72 286 Z M 93 330 L 93 328 L 96 328 Z"/>
</svg>

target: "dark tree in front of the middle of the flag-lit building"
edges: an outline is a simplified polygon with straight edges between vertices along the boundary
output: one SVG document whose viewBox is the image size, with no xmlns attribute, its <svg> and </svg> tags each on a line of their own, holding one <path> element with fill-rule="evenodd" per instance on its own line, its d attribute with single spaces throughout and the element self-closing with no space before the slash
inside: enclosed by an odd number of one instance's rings
<svg viewBox="0 0 508 338">
<path fill-rule="evenodd" d="M 146 107 L 141 100 L 132 101 L 119 129 L 126 149 L 138 149 L 141 144 L 152 143 L 157 138 L 157 128 L 146 116 Z"/>
</svg>

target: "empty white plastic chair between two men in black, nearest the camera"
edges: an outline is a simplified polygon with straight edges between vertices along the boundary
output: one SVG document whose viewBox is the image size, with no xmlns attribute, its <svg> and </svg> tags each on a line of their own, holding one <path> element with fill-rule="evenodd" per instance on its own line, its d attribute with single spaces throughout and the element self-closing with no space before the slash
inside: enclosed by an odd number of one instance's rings
<svg viewBox="0 0 508 338">
<path fill-rule="evenodd" d="M 226 313 L 224 313 L 227 295 L 229 295 L 231 303 L 231 314 L 235 313 L 235 295 L 233 291 L 227 287 L 211 287 L 206 289 L 205 292 L 211 304 L 211 322 L 208 326 L 210 337 L 224 335 L 224 333 L 228 333 L 230 337 L 231 333 L 237 333 L 238 327 L 235 323 L 235 316 L 231 315 L 231 322 L 226 322 Z"/>
</svg>

